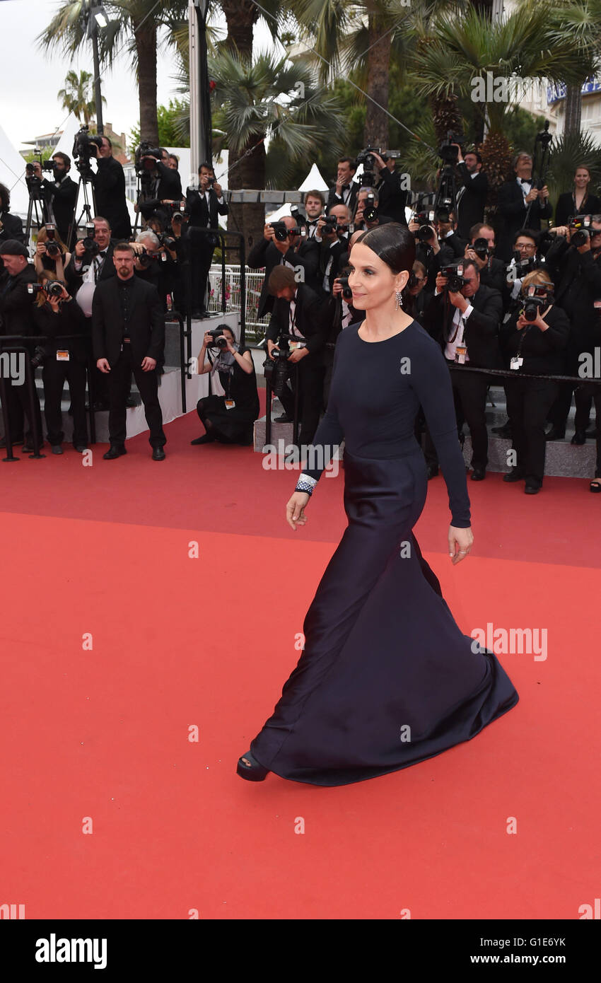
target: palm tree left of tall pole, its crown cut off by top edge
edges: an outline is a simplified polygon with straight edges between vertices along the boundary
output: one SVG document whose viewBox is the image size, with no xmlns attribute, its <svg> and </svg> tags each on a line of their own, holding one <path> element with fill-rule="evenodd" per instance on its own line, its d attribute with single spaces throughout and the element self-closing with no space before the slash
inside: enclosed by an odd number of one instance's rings
<svg viewBox="0 0 601 983">
<path fill-rule="evenodd" d="M 140 136 L 158 143 L 156 118 L 156 50 L 161 29 L 168 44 L 188 18 L 188 0 L 106 0 L 110 23 L 98 31 L 100 58 L 110 65 L 125 44 L 136 69 L 139 92 Z M 63 0 L 46 29 L 38 35 L 42 49 L 59 49 L 73 56 L 87 42 L 87 0 Z"/>
</svg>

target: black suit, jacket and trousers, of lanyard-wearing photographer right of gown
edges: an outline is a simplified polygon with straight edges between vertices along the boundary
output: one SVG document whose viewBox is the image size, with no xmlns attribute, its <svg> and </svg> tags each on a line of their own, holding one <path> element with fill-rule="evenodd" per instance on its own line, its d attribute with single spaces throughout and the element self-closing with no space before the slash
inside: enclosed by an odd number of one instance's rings
<svg viewBox="0 0 601 983">
<path fill-rule="evenodd" d="M 434 297 L 426 312 L 426 326 L 438 341 L 443 355 L 449 336 L 455 327 L 453 317 L 456 308 L 450 304 L 445 316 L 445 294 Z M 503 316 L 503 300 L 498 290 L 480 286 L 473 297 L 467 298 L 473 311 L 465 319 L 464 344 L 467 347 L 468 364 L 482 369 L 501 369 L 503 362 L 499 347 L 499 325 Z M 448 326 L 445 323 L 448 321 Z M 446 358 L 446 355 L 445 355 Z M 455 397 L 458 430 L 464 420 L 471 434 L 473 468 L 485 469 L 488 463 L 488 434 L 486 431 L 486 390 L 489 378 L 484 374 L 464 370 L 463 366 L 449 362 L 451 383 Z"/>
</svg>

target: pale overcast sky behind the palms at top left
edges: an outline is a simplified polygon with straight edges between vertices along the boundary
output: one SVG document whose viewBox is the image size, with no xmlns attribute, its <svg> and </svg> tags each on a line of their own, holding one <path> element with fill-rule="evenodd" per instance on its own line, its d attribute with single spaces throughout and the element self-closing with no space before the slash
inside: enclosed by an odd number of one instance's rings
<svg viewBox="0 0 601 983">
<path fill-rule="evenodd" d="M 35 37 L 50 23 L 59 7 L 59 0 L 0 0 L 0 37 L 3 40 L 0 123 L 18 150 L 25 147 L 26 141 L 62 128 L 67 112 L 61 109 L 56 93 L 65 87 L 67 72 L 72 68 L 78 75 L 81 69 L 92 71 L 91 42 L 88 42 L 86 52 L 73 62 L 58 54 L 49 58 L 37 49 Z M 255 31 L 260 44 L 267 30 L 259 25 Z M 159 53 L 159 104 L 177 97 L 172 59 L 173 55 Z M 130 131 L 137 126 L 139 108 L 136 79 L 125 53 L 112 71 L 102 70 L 102 94 L 106 98 L 104 121 L 111 123 L 117 133 L 125 133 L 129 140 Z"/>
</svg>

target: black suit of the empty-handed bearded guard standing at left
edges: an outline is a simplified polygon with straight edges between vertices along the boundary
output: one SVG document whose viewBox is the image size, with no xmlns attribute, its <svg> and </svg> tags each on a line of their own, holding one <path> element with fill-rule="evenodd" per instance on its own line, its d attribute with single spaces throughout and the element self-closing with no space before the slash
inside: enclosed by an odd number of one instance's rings
<svg viewBox="0 0 601 983">
<path fill-rule="evenodd" d="M 166 442 L 163 415 L 158 401 L 156 368 L 144 372 L 142 360 L 155 359 L 157 367 L 164 361 L 165 321 L 156 287 L 131 277 L 127 289 L 130 317 L 125 320 L 122 308 L 122 281 L 118 276 L 98 283 L 92 301 L 92 343 L 94 358 L 107 359 L 111 367 L 109 389 L 109 437 L 111 445 L 123 446 L 126 440 L 126 399 L 132 372 L 144 404 L 150 430 L 148 442 L 162 447 Z M 130 341 L 124 340 L 129 333 Z"/>
</svg>

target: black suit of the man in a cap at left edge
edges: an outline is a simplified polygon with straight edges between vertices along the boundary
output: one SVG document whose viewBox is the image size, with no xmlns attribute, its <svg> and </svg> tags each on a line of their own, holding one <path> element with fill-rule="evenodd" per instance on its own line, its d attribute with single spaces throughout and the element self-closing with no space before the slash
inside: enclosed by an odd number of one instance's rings
<svg viewBox="0 0 601 983">
<path fill-rule="evenodd" d="M 28 293 L 27 284 L 37 283 L 37 275 L 33 266 L 27 263 L 16 276 L 9 276 L 4 270 L 0 276 L 0 334 L 33 334 L 33 301 L 34 295 Z M 1 341 L 1 339 L 0 339 Z M 25 345 L 32 354 L 32 345 L 27 345 L 26 341 L 7 342 L 7 348 L 12 345 Z M 5 379 L 5 391 L 7 411 L 13 440 L 22 440 L 24 436 L 24 423 L 27 417 L 27 442 L 31 442 L 31 411 L 29 408 L 29 395 L 27 385 L 18 385 L 16 380 Z M 37 424 L 39 439 L 42 439 L 41 413 L 39 410 L 39 399 L 37 390 L 33 389 L 33 413 Z M 25 415 L 25 416 L 24 416 Z"/>
</svg>

